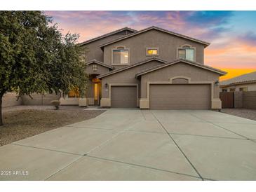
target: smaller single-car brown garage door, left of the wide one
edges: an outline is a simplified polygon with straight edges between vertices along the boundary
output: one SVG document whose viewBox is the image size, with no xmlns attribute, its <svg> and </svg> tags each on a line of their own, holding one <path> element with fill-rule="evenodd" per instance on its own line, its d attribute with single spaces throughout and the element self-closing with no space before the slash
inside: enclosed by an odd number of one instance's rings
<svg viewBox="0 0 256 192">
<path fill-rule="evenodd" d="M 111 107 L 137 107 L 136 86 L 112 86 Z"/>
</svg>

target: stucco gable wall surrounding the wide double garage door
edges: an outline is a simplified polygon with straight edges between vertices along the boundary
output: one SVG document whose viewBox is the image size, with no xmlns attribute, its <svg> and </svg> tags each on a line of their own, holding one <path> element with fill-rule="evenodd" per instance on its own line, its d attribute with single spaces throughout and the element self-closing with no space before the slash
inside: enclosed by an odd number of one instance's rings
<svg viewBox="0 0 256 192">
<path fill-rule="evenodd" d="M 191 83 L 193 83 L 193 81 L 207 81 L 214 83 L 215 81 L 219 80 L 219 74 L 199 67 L 194 67 L 183 62 L 179 62 L 169 67 L 164 67 L 162 69 L 142 75 L 140 94 L 141 98 L 147 98 L 147 82 L 170 81 L 170 78 L 173 78 L 175 76 L 184 76 L 190 78 Z M 220 88 L 218 85 L 214 85 L 213 98 L 219 97 Z"/>
</svg>

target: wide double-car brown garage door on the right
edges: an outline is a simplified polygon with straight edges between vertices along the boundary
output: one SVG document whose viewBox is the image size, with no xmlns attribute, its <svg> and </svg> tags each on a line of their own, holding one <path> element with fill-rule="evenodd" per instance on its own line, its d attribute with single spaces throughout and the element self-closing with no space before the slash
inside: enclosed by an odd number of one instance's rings
<svg viewBox="0 0 256 192">
<path fill-rule="evenodd" d="M 150 85 L 150 109 L 210 109 L 210 85 Z"/>
</svg>

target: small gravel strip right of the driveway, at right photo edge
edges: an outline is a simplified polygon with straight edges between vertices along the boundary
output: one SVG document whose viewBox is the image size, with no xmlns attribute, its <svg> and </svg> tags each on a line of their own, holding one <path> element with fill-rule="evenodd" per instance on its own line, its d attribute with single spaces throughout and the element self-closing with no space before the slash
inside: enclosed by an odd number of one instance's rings
<svg viewBox="0 0 256 192">
<path fill-rule="evenodd" d="M 222 109 L 222 113 L 249 118 L 256 121 L 255 109 Z"/>
</svg>

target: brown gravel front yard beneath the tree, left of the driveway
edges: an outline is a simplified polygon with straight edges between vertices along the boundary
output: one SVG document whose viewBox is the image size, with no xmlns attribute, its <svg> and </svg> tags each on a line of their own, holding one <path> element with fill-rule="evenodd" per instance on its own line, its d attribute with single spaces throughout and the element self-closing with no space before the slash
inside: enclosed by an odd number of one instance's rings
<svg viewBox="0 0 256 192">
<path fill-rule="evenodd" d="M 51 106 L 8 107 L 4 109 L 4 126 L 0 127 L 0 146 L 25 139 L 41 132 L 84 121 L 105 110 L 83 110 L 81 107 Z"/>
</svg>

